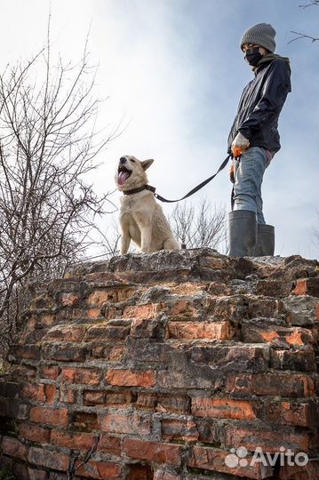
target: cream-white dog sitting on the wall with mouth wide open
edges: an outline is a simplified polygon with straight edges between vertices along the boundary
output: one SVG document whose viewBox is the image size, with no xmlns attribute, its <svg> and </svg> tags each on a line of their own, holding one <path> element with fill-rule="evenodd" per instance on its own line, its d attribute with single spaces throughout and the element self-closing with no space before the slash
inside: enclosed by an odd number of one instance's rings
<svg viewBox="0 0 319 480">
<path fill-rule="evenodd" d="M 154 193 L 145 188 L 146 170 L 154 160 L 140 162 L 135 156 L 122 156 L 116 169 L 116 186 L 124 193 L 121 198 L 121 255 L 127 253 L 131 240 L 141 252 L 180 250 L 162 207 Z"/>
</svg>

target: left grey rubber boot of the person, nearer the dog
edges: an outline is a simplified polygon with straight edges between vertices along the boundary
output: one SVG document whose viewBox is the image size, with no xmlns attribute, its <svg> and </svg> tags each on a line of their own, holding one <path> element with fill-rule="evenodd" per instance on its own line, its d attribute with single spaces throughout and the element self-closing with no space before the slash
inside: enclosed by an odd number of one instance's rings
<svg viewBox="0 0 319 480">
<path fill-rule="evenodd" d="M 228 215 L 229 257 L 251 257 L 257 241 L 256 213 L 235 210 Z"/>
</svg>

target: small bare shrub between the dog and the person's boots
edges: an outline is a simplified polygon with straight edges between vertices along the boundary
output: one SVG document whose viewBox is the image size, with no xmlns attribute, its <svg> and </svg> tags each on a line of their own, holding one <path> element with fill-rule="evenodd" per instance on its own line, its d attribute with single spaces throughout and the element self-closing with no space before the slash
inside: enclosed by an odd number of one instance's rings
<svg viewBox="0 0 319 480">
<path fill-rule="evenodd" d="M 225 249 L 227 239 L 226 212 L 203 199 L 197 208 L 179 204 L 171 214 L 171 227 L 181 244 L 187 248 L 211 247 Z"/>
</svg>

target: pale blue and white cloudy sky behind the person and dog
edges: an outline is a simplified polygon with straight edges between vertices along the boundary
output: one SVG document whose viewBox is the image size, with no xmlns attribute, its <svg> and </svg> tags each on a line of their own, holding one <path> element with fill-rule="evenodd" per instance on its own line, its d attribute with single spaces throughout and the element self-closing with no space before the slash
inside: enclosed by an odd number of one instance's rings
<svg viewBox="0 0 319 480">
<path fill-rule="evenodd" d="M 282 149 L 263 182 L 264 214 L 275 225 L 275 254 L 317 258 L 318 45 L 291 42 L 292 30 L 319 36 L 319 7 L 310 0 L 1 0 L 0 68 L 30 58 L 45 44 L 51 9 L 52 51 L 76 63 L 86 36 L 94 93 L 106 99 L 99 125 L 122 132 L 98 158 L 90 182 L 115 188 L 120 156 L 154 158 L 148 180 L 166 198 L 179 198 L 211 176 L 227 156 L 238 101 L 253 74 L 243 60 L 243 32 L 260 22 L 276 30 L 276 53 L 291 60 L 291 85 L 279 119 Z M 231 183 L 220 172 L 191 204 L 207 199 L 230 211 Z M 112 201 L 118 206 L 120 194 Z M 164 204 L 170 215 L 172 205 Z M 117 213 L 115 214 L 117 215 Z M 99 220 L 111 232 L 114 215 Z M 108 235 L 108 233 L 107 233 Z M 111 235 L 111 233 L 110 233 Z"/>
</svg>

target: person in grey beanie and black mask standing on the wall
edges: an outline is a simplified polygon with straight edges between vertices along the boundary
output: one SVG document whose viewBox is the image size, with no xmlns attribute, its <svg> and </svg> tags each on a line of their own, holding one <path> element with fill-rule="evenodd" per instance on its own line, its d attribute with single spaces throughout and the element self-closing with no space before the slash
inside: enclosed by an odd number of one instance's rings
<svg viewBox="0 0 319 480">
<path fill-rule="evenodd" d="M 262 212 L 264 172 L 280 149 L 278 118 L 291 92 L 289 59 L 275 54 L 275 28 L 259 23 L 248 28 L 240 48 L 254 78 L 243 89 L 228 137 L 234 156 L 234 211 L 229 213 L 229 256 L 273 255 L 275 228 Z"/>
</svg>

